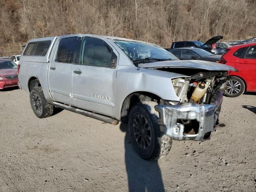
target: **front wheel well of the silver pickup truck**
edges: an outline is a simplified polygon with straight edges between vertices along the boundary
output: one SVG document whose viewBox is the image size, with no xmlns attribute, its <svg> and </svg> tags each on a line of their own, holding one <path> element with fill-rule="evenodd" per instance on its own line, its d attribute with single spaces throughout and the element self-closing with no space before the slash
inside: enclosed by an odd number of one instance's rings
<svg viewBox="0 0 256 192">
<path fill-rule="evenodd" d="M 165 104 L 165 100 L 162 100 L 159 96 L 149 93 L 149 92 L 134 92 L 128 95 L 122 104 L 121 108 L 121 121 L 128 123 L 128 117 L 130 109 L 137 103 L 144 101 L 155 101 L 158 104 Z"/>
</svg>

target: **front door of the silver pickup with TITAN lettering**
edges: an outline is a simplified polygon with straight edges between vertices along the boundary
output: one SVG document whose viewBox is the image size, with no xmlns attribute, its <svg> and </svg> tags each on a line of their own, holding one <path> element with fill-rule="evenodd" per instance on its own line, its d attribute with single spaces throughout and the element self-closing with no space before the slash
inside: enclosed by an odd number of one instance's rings
<svg viewBox="0 0 256 192">
<path fill-rule="evenodd" d="M 73 68 L 74 106 L 114 114 L 118 52 L 98 38 L 81 40 L 80 62 Z"/>
</svg>

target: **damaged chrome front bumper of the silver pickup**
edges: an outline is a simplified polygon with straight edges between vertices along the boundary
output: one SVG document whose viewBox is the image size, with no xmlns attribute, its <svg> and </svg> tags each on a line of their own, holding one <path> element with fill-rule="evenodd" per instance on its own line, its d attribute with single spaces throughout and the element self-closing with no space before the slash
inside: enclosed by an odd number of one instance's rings
<svg viewBox="0 0 256 192">
<path fill-rule="evenodd" d="M 160 118 L 160 130 L 167 136 L 176 140 L 209 139 L 218 124 L 223 96 L 220 90 L 216 91 L 211 104 L 183 104 L 183 105 L 157 105 L 156 111 Z M 184 133 L 185 126 L 179 120 L 196 120 L 199 124 L 195 134 Z M 179 122 L 177 122 L 179 121 Z"/>
</svg>

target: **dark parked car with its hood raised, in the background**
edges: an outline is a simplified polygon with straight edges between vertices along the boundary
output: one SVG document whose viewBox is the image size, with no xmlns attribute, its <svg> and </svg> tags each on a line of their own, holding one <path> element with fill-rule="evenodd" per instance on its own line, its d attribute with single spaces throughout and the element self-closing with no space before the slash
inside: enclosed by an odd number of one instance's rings
<svg viewBox="0 0 256 192">
<path fill-rule="evenodd" d="M 210 53 L 212 53 L 212 44 L 216 43 L 218 40 L 222 39 L 223 36 L 214 36 L 210 38 L 205 43 L 202 43 L 200 41 L 178 41 L 178 42 L 172 42 L 171 49 L 174 48 L 188 48 L 188 47 L 196 47 L 204 49 Z"/>
</svg>

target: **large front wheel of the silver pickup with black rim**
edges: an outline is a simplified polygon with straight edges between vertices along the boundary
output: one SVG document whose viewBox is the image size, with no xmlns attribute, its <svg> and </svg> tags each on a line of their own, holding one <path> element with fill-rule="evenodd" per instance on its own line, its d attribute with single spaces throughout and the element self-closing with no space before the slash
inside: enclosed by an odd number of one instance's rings
<svg viewBox="0 0 256 192">
<path fill-rule="evenodd" d="M 156 105 L 152 101 L 138 103 L 129 114 L 128 132 L 132 146 L 145 160 L 162 158 L 172 147 L 172 139 L 160 131 L 159 114 L 154 108 Z"/>
</svg>

